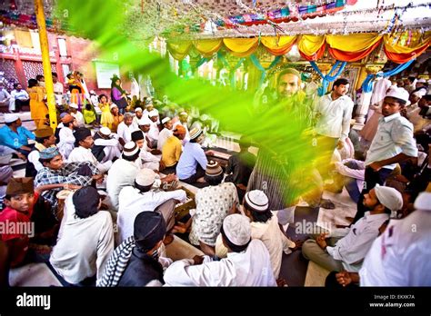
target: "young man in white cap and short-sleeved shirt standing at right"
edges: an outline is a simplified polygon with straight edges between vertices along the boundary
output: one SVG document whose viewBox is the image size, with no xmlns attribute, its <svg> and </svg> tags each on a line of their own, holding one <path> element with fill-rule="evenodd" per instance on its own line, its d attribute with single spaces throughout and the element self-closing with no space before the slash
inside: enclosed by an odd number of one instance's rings
<svg viewBox="0 0 431 316">
<path fill-rule="evenodd" d="M 354 222 L 364 213 L 364 195 L 376 184 L 383 184 L 395 169 L 396 163 L 403 163 L 417 157 L 416 141 L 413 138 L 413 124 L 401 116 L 400 111 L 408 102 L 408 93 L 403 88 L 391 87 L 382 104 L 383 117 L 379 118 L 377 133 L 366 154 L 366 175 L 364 189 L 357 202 Z"/>
</svg>

